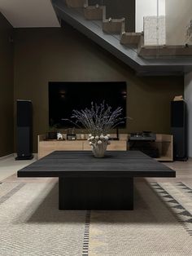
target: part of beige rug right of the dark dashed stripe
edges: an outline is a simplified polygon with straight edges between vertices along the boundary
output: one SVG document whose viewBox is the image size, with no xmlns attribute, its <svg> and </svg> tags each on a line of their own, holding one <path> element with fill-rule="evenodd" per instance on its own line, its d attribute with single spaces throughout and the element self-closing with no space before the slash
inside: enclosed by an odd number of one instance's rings
<svg viewBox="0 0 192 256">
<path fill-rule="evenodd" d="M 184 215 L 176 216 L 185 208 L 174 209 L 172 206 L 181 206 L 181 203 L 164 202 L 163 196 L 171 195 L 158 183 L 151 183 L 151 187 L 142 182 L 135 185 L 135 210 L 91 212 L 89 255 L 191 255 L 192 230 L 184 225 Z M 169 185 L 178 187 L 177 183 L 167 183 L 167 188 Z M 188 210 L 191 210 L 190 194 L 178 194 L 178 201 L 184 197 L 190 201 Z M 165 201 L 172 200 L 171 197 Z M 191 214 L 188 217 L 190 219 Z"/>
</svg>

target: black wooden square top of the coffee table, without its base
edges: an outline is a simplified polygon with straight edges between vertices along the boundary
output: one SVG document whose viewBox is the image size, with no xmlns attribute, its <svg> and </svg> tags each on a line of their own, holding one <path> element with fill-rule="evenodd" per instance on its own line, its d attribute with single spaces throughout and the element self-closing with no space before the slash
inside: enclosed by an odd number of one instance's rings
<svg viewBox="0 0 192 256">
<path fill-rule="evenodd" d="M 139 151 L 55 151 L 17 172 L 18 177 L 175 177 L 176 172 Z"/>
</svg>

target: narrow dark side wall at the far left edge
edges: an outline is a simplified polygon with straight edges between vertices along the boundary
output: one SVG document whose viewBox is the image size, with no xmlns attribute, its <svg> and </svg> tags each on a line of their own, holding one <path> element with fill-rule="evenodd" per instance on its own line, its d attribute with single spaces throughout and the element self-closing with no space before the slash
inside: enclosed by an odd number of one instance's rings
<svg viewBox="0 0 192 256">
<path fill-rule="evenodd" d="M 0 13 L 0 157 L 13 148 L 13 44 L 11 24 Z"/>
</svg>

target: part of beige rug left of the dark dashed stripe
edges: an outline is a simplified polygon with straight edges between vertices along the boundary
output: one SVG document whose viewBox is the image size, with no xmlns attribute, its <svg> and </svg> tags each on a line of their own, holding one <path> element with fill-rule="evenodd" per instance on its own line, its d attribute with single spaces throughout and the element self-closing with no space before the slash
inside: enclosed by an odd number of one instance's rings
<svg viewBox="0 0 192 256">
<path fill-rule="evenodd" d="M 0 185 L 0 255 L 81 255 L 85 211 L 59 211 L 55 183 Z"/>
</svg>

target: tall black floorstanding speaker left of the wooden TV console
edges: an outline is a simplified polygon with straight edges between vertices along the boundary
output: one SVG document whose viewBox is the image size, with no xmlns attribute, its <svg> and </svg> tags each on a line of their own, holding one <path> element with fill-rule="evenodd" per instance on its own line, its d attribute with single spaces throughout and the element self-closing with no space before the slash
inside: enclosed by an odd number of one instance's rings
<svg viewBox="0 0 192 256">
<path fill-rule="evenodd" d="M 16 152 L 15 160 L 33 159 L 33 106 L 30 100 L 16 102 Z"/>
</svg>

